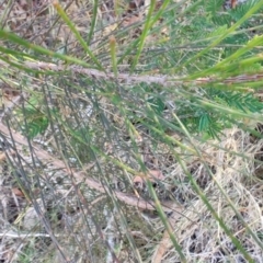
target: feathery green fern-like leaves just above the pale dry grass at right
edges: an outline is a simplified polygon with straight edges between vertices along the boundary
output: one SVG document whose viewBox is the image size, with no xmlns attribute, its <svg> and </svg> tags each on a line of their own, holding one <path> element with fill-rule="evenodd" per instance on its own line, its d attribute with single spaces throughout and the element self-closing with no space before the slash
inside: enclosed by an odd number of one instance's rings
<svg viewBox="0 0 263 263">
<path fill-rule="evenodd" d="M 260 113 L 263 111 L 263 103 L 252 93 L 236 91 L 222 91 L 209 88 L 202 91 L 202 100 L 208 100 L 224 107 L 237 108 L 244 113 Z M 176 101 L 178 116 L 191 134 L 201 134 L 204 138 L 218 138 L 220 132 L 231 127 L 228 115 L 206 105 L 196 104 L 196 98 L 185 101 Z M 241 118 L 240 118 L 241 121 Z M 209 135 L 207 137 L 207 135 Z"/>
</svg>

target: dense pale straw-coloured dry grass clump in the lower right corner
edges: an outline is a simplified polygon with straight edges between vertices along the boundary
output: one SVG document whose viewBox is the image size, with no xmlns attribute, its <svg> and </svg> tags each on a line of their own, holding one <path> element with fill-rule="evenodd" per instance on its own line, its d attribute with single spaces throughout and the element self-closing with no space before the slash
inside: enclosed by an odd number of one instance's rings
<svg viewBox="0 0 263 263">
<path fill-rule="evenodd" d="M 254 233 L 262 232 L 262 193 L 258 191 L 262 182 L 259 182 L 254 175 L 254 156 L 262 148 L 263 141 L 251 144 L 251 136 L 237 128 L 226 130 L 224 134 L 226 137 L 222 137 L 220 142 L 222 149 L 201 146 L 202 152 L 210 157 L 209 160 L 206 159 L 205 164 L 213 165 L 215 170 L 204 193 L 218 215 L 230 227 L 231 232 L 250 252 L 254 262 L 261 262 L 262 249 L 248 235 L 229 203 L 235 205 L 243 221 Z M 242 156 L 237 156 L 236 152 Z M 202 165 L 193 174 L 196 180 L 202 176 L 198 172 Z M 184 216 L 176 222 L 175 232 L 187 255 L 187 262 L 244 262 L 203 201 L 198 197 L 193 198 Z M 179 261 L 172 250 L 167 252 L 165 262 Z"/>
</svg>

